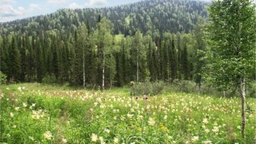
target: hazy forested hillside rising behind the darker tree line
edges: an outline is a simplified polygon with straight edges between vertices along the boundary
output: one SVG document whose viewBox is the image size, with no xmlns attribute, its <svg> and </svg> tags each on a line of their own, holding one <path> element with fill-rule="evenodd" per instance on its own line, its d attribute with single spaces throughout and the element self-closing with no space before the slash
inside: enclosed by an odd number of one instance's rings
<svg viewBox="0 0 256 144">
<path fill-rule="evenodd" d="M 206 17 L 207 4 L 187 0 L 149 0 L 117 7 L 61 9 L 52 14 L 0 23 L 0 34 L 19 32 L 32 36 L 39 31 L 52 30 L 74 34 L 75 29 L 82 23 L 89 23 L 95 28 L 99 15 L 114 23 L 115 34 L 133 35 L 136 30 L 143 34 L 149 30 L 159 31 L 161 34 L 178 31 L 188 33 L 199 16 Z"/>
</svg>

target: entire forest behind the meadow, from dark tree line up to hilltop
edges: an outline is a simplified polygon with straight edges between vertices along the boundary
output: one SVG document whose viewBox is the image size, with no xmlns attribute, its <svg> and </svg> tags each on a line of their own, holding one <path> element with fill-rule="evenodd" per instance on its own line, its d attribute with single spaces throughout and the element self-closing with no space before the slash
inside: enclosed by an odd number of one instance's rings
<svg viewBox="0 0 256 144">
<path fill-rule="evenodd" d="M 193 29 L 207 5 L 141 1 L 1 23 L 1 71 L 15 82 L 75 86 L 193 80 L 196 49 L 204 48 Z"/>
</svg>

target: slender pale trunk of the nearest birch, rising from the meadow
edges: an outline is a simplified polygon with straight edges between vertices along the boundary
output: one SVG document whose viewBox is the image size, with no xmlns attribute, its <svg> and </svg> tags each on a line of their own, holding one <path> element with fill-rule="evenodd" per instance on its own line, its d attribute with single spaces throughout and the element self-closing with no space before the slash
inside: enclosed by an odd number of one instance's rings
<svg viewBox="0 0 256 144">
<path fill-rule="evenodd" d="M 242 100 L 242 137 L 245 139 L 245 124 L 246 124 L 246 119 L 245 119 L 245 77 L 241 77 L 241 83 L 240 83 L 240 88 L 241 88 L 241 100 Z"/>
</svg>

